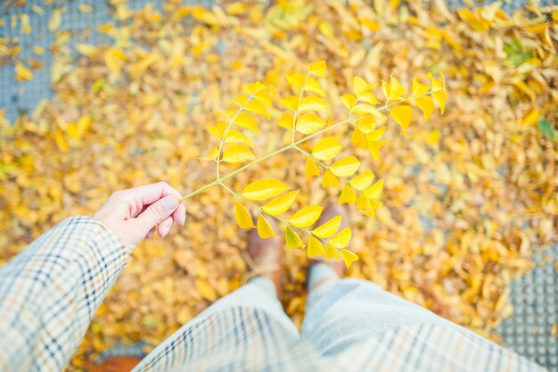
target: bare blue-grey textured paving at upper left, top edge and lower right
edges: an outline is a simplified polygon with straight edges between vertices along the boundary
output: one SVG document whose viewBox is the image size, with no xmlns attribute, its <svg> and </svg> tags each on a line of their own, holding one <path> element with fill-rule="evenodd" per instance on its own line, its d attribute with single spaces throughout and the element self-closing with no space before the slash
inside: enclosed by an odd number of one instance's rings
<svg viewBox="0 0 558 372">
<path fill-rule="evenodd" d="M 160 0 L 128 1 L 128 5 L 132 9 L 144 7 L 145 4 L 157 6 L 160 3 Z M 212 3 L 211 0 L 185 1 L 185 4 Z M 474 3 L 482 4 L 479 1 Z M 488 3 L 490 2 L 486 2 L 486 4 Z M 526 0 L 505 1 L 504 8 L 510 12 L 526 3 Z M 34 4 L 39 4 L 45 14 L 38 15 L 36 12 L 32 12 L 31 7 Z M 91 5 L 93 12 L 85 14 L 79 12 L 79 4 Z M 448 0 L 448 4 L 450 8 L 455 8 L 455 6 L 463 5 L 464 2 Z M 550 5 L 554 4 L 554 0 L 541 0 L 538 4 Z M 0 27 L 0 37 L 20 37 L 22 46 L 20 58 L 26 60 L 29 56 L 35 56 L 43 62 L 41 70 L 33 71 L 34 79 L 20 83 L 13 79 L 13 65 L 0 66 L 0 108 L 6 110 L 8 119 L 13 122 L 20 112 L 32 112 L 40 100 L 52 97 L 50 68 L 53 58 L 48 49 L 53 43 L 53 35 L 46 29 L 46 22 L 50 20 L 53 9 L 56 6 L 65 6 L 68 9 L 62 16 L 60 29 L 69 30 L 75 34 L 82 29 L 97 29 L 112 19 L 109 7 L 102 0 L 59 1 L 53 2 L 49 6 L 43 5 L 40 0 L 28 0 L 22 8 L 10 7 L 4 10 L 2 6 L 0 3 L 0 19 L 3 19 L 6 25 Z M 16 29 L 10 27 L 12 14 L 21 12 L 29 14 L 29 21 L 33 28 L 29 35 L 21 35 L 19 25 Z M 92 32 L 86 39 L 80 39 L 80 42 L 92 45 L 107 41 L 106 37 L 97 32 Z M 35 45 L 42 46 L 45 54 L 42 56 L 34 54 L 32 47 Z M 551 251 L 557 255 L 558 246 Z M 558 338 L 551 335 L 553 325 L 558 322 L 558 273 L 554 270 L 552 263 L 534 269 L 529 272 L 529 275 L 515 281 L 512 285 L 510 302 L 513 303 L 513 317 L 506 319 L 497 329 L 505 343 L 529 359 L 536 360 L 553 372 L 558 372 Z"/>
</svg>

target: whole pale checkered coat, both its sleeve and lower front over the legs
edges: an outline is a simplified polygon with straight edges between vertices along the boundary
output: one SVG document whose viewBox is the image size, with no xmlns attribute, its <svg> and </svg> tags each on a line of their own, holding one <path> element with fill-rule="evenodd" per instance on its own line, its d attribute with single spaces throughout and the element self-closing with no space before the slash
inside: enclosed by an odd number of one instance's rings
<svg viewBox="0 0 558 372">
<path fill-rule="evenodd" d="M 65 219 L 0 267 L 0 371 L 62 371 L 127 263 L 94 219 Z M 324 357 L 264 310 L 219 310 L 152 351 L 135 371 L 531 372 L 543 369 L 455 328 L 393 330 Z"/>
</svg>

